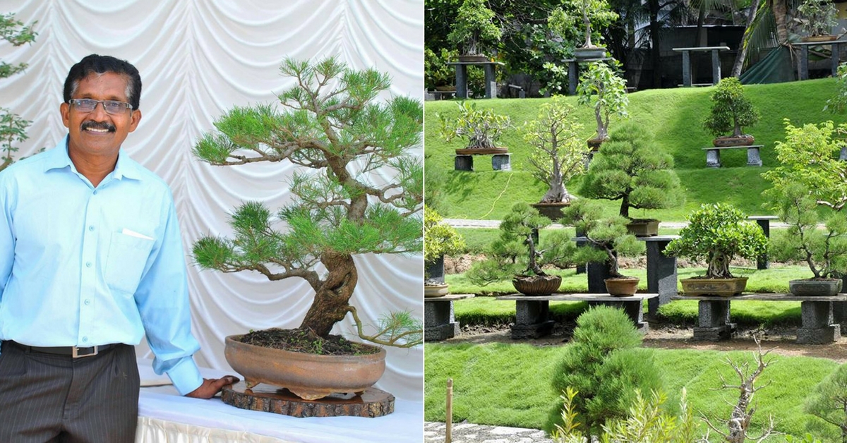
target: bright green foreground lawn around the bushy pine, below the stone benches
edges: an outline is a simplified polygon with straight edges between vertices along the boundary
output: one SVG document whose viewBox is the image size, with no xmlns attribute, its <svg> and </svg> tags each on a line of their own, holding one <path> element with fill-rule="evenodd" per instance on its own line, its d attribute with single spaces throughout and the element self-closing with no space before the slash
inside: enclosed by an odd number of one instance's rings
<svg viewBox="0 0 847 443">
<path fill-rule="evenodd" d="M 458 304 L 458 303 L 457 303 Z M 551 388 L 562 346 L 491 343 L 425 346 L 424 419 L 445 421 L 446 379 L 453 379 L 453 421 L 540 429 L 559 395 Z M 722 374 L 737 382 L 725 357 L 751 361 L 750 352 L 655 349 L 656 365 L 669 396 L 678 398 L 684 387 L 695 415 L 728 417 L 737 391 L 717 390 Z M 772 415 L 777 430 L 789 435 L 810 432 L 824 441 L 840 435 L 814 416 L 803 413 L 806 394 L 838 365 L 812 357 L 774 357 L 776 363 L 761 375 L 756 393 L 758 409 L 751 428 L 761 429 Z M 676 400 L 673 400 L 676 401 Z M 705 431 L 705 426 L 703 427 Z M 754 432 L 756 435 L 756 432 Z M 712 433 L 712 436 L 715 436 Z M 715 439 L 717 440 L 717 439 Z M 782 436 L 767 441 L 784 441 Z"/>
</svg>

